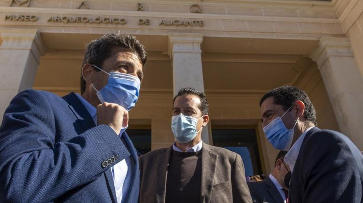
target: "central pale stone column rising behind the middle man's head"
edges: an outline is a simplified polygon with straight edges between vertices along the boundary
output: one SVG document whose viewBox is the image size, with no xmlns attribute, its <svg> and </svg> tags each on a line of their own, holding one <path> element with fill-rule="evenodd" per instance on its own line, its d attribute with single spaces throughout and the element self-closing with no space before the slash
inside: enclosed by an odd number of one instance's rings
<svg viewBox="0 0 363 203">
<path fill-rule="evenodd" d="M 172 58 L 174 95 L 185 87 L 204 92 L 200 49 L 202 41 L 203 34 L 200 33 L 169 34 L 168 54 Z M 208 126 L 202 130 L 201 138 L 205 143 L 209 143 Z"/>
</svg>

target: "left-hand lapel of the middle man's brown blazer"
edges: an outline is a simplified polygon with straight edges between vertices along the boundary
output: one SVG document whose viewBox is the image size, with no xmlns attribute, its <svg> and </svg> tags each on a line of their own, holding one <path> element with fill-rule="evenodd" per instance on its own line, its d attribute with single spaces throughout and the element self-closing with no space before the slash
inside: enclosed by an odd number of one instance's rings
<svg viewBox="0 0 363 203">
<path fill-rule="evenodd" d="M 172 146 L 166 149 L 163 155 L 157 159 L 156 169 L 156 202 L 165 202 L 166 179 L 168 175 L 168 166 L 170 161 Z"/>
</svg>

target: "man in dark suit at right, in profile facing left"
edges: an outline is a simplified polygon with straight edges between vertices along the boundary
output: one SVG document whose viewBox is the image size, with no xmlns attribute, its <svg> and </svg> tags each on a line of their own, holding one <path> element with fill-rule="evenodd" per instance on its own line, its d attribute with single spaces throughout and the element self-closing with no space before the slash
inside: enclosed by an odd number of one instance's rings
<svg viewBox="0 0 363 203">
<path fill-rule="evenodd" d="M 267 92 L 260 101 L 269 142 L 288 151 L 289 203 L 361 203 L 363 155 L 345 135 L 321 130 L 309 97 L 294 86 Z"/>
</svg>

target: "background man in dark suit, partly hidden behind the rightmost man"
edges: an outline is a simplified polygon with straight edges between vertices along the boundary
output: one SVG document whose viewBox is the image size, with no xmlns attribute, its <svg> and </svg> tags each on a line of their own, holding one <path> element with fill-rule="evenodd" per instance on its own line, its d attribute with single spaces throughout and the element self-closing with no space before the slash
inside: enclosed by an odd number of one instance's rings
<svg viewBox="0 0 363 203">
<path fill-rule="evenodd" d="M 267 178 L 262 181 L 247 182 L 253 202 L 286 203 L 288 188 L 284 180 L 289 169 L 284 163 L 285 154 L 286 151 L 277 154 L 275 168 Z"/>
</svg>

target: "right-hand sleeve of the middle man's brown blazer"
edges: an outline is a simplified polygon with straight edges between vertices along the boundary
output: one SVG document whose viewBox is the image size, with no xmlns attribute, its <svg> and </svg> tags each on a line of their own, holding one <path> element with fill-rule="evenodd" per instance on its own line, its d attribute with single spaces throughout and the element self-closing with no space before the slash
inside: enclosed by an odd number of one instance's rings
<svg viewBox="0 0 363 203">
<path fill-rule="evenodd" d="M 232 163 L 232 192 L 233 202 L 252 203 L 252 198 L 246 183 L 245 167 L 243 166 L 242 158 L 236 154 Z"/>
</svg>

